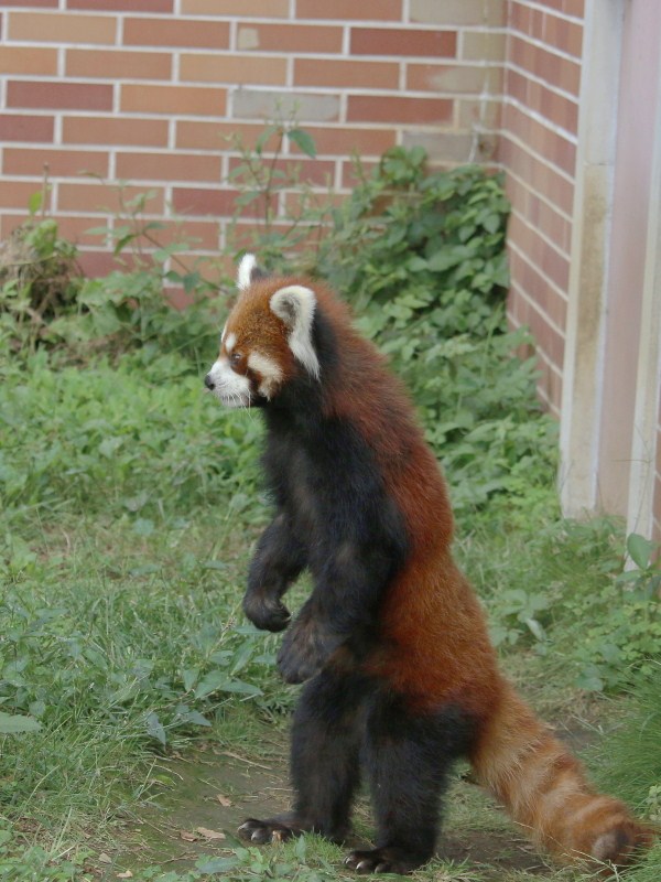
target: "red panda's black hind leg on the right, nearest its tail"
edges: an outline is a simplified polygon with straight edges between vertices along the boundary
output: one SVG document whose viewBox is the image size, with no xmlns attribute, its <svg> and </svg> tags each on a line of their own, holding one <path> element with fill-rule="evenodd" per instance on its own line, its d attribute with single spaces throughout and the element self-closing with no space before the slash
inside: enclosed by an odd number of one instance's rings
<svg viewBox="0 0 661 882">
<path fill-rule="evenodd" d="M 408 873 L 432 857 L 441 796 L 469 736 L 469 722 L 454 709 L 415 714 L 402 698 L 377 697 L 365 742 L 377 848 L 353 851 L 348 867 L 362 873 Z"/>
</svg>

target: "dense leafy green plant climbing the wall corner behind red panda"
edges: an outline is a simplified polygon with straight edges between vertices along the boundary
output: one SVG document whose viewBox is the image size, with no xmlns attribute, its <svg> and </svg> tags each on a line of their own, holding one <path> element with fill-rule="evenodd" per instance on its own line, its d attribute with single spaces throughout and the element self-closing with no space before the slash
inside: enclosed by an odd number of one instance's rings
<svg viewBox="0 0 661 882">
<path fill-rule="evenodd" d="M 429 171 L 386 153 L 334 213 L 316 271 L 389 355 L 446 467 L 455 508 L 550 486 L 555 424 L 541 413 L 524 330 L 508 330 L 502 181 L 478 166 Z"/>
</svg>

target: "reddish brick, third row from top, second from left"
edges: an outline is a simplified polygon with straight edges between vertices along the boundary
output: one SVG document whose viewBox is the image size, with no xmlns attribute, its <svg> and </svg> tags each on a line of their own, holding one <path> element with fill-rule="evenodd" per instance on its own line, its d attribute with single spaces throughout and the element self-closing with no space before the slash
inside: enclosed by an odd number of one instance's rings
<svg viewBox="0 0 661 882">
<path fill-rule="evenodd" d="M 69 49 L 66 74 L 88 79 L 170 79 L 172 55 L 165 52 Z"/>
</svg>

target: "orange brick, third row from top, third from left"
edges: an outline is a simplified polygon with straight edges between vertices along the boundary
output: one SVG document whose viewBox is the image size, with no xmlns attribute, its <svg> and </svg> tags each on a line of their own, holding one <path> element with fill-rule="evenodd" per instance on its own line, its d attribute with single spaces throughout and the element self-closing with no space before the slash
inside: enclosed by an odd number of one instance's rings
<svg viewBox="0 0 661 882">
<path fill-rule="evenodd" d="M 227 83 L 284 86 L 286 58 L 258 55 L 182 54 L 180 79 L 196 83 Z"/>
</svg>

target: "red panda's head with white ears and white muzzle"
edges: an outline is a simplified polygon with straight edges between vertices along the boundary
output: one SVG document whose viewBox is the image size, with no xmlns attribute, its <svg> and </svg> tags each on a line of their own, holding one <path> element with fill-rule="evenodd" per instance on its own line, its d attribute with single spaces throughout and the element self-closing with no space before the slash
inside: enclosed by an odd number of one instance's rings
<svg viewBox="0 0 661 882">
<path fill-rule="evenodd" d="M 227 407 L 250 407 L 277 398 L 302 373 L 318 380 L 314 291 L 264 277 L 253 255 L 242 258 L 237 284 L 239 299 L 223 330 L 206 387 Z"/>
</svg>

